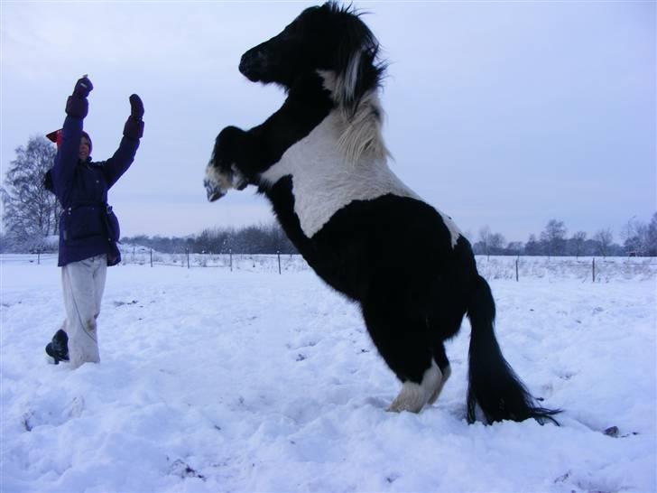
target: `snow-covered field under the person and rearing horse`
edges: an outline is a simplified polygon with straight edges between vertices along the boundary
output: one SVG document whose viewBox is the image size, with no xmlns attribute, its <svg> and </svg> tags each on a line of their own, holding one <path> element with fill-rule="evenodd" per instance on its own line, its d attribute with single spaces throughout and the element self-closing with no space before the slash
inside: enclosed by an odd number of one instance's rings
<svg viewBox="0 0 657 493">
<path fill-rule="evenodd" d="M 565 411 L 485 426 L 467 321 L 436 405 L 389 414 L 400 385 L 356 306 L 303 269 L 112 267 L 102 363 L 48 365 L 60 273 L 27 258 L 0 257 L 3 493 L 657 489 L 653 275 L 491 271 L 504 355 Z"/>
</svg>

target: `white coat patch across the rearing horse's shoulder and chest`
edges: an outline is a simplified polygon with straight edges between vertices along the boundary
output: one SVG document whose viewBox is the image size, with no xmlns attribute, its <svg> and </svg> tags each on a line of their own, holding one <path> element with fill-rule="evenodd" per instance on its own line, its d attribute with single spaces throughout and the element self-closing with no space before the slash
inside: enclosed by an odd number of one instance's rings
<svg viewBox="0 0 657 493">
<path fill-rule="evenodd" d="M 294 212 L 306 237 L 354 200 L 374 200 L 388 193 L 418 199 L 384 161 L 365 157 L 346 163 L 338 137 L 335 119 L 329 115 L 262 175 L 271 184 L 291 176 Z"/>
</svg>

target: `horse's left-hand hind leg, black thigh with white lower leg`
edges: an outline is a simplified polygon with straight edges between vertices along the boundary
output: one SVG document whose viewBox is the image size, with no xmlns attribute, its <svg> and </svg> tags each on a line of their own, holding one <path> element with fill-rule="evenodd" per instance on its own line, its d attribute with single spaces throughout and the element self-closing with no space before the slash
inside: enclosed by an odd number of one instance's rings
<svg viewBox="0 0 657 493">
<path fill-rule="evenodd" d="M 376 349 L 403 382 L 388 411 L 419 413 L 440 391 L 442 381 L 432 357 L 426 321 L 404 317 L 380 303 L 364 305 L 363 315 Z"/>
</svg>

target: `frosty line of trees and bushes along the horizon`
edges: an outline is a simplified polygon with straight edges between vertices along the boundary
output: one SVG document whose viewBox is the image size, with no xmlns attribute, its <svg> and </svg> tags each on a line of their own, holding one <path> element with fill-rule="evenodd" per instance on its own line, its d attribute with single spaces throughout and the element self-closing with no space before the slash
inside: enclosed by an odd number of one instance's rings
<svg viewBox="0 0 657 493">
<path fill-rule="evenodd" d="M 4 207 L 0 252 L 56 251 L 60 203 L 45 189 L 43 175 L 55 159 L 55 147 L 35 136 L 15 150 L 0 188 Z M 649 222 L 629 219 L 621 228 L 620 241 L 610 228 L 588 237 L 585 231 L 569 234 L 563 221 L 551 219 L 526 242 L 507 242 L 501 233 L 485 226 L 477 237 L 466 235 L 477 255 L 523 256 L 657 256 L 657 212 Z M 207 228 L 190 237 L 124 237 L 123 243 L 152 247 L 162 253 L 282 254 L 296 253 L 278 224 L 245 228 Z"/>
</svg>

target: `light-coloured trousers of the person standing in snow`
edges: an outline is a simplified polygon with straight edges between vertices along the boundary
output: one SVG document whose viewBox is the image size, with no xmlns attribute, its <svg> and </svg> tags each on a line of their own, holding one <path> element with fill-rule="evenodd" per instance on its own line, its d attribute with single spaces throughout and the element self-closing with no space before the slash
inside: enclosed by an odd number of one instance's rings
<svg viewBox="0 0 657 493">
<path fill-rule="evenodd" d="M 66 306 L 64 331 L 69 336 L 70 366 L 99 363 L 96 319 L 105 291 L 107 256 L 99 255 L 61 267 Z"/>
</svg>

